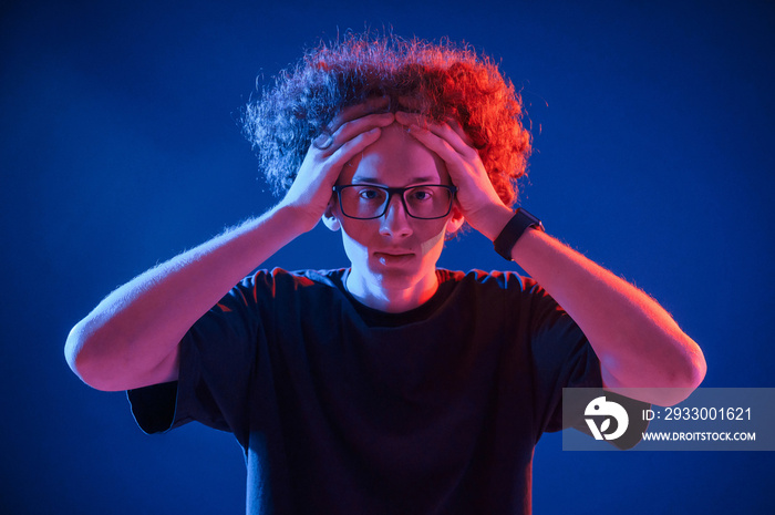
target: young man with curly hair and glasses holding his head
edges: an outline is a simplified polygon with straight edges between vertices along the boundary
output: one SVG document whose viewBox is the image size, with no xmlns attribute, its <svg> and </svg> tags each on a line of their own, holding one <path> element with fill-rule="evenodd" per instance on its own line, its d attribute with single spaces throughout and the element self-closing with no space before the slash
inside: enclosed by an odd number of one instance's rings
<svg viewBox="0 0 775 515">
<path fill-rule="evenodd" d="M 310 52 L 246 112 L 282 200 L 111 293 L 69 363 L 130 390 L 148 432 L 232 432 L 248 513 L 529 513 L 562 388 L 672 404 L 705 363 L 654 300 L 512 209 L 520 114 L 466 49 L 350 37 Z M 349 268 L 249 275 L 321 218 Z M 437 269 L 464 224 L 531 278 Z"/>
</svg>

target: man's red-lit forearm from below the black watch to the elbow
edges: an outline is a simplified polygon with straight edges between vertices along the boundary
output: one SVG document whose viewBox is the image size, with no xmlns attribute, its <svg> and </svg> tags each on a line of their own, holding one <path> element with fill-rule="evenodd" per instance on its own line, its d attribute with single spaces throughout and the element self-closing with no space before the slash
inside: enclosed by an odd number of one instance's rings
<svg viewBox="0 0 775 515">
<path fill-rule="evenodd" d="M 526 230 L 512 256 L 579 325 L 607 388 L 658 389 L 642 400 L 664 405 L 704 378 L 698 344 L 643 291 L 539 230 Z"/>
</svg>

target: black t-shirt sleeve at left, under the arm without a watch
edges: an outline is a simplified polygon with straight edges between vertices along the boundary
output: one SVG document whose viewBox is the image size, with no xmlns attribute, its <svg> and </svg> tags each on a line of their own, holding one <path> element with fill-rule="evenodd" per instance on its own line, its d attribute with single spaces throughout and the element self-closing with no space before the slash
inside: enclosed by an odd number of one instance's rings
<svg viewBox="0 0 775 515">
<path fill-rule="evenodd" d="M 178 380 L 130 390 L 140 428 L 168 431 L 190 421 L 239 434 L 247 426 L 249 383 L 266 339 L 261 311 L 271 277 L 257 274 L 232 288 L 180 340 Z M 270 289 L 271 291 L 271 289 Z"/>
</svg>

